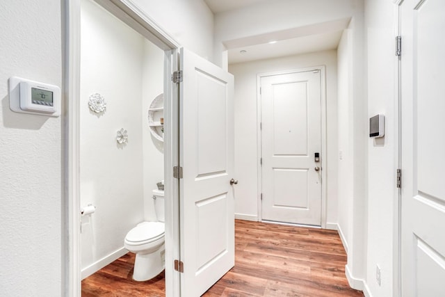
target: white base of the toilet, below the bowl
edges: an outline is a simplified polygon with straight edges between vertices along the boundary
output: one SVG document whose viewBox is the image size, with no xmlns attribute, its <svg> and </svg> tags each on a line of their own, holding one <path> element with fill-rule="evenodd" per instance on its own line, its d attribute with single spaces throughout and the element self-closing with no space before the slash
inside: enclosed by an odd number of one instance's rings
<svg viewBox="0 0 445 297">
<path fill-rule="evenodd" d="M 134 260 L 133 280 L 143 282 L 151 280 L 165 268 L 165 248 L 161 246 L 155 252 L 149 254 L 136 253 Z"/>
</svg>

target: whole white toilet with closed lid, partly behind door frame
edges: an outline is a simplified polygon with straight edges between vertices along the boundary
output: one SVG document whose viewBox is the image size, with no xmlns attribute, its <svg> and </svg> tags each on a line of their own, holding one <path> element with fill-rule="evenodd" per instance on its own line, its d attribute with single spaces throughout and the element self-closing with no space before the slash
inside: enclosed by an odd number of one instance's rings
<svg viewBox="0 0 445 297">
<path fill-rule="evenodd" d="M 125 236 L 124 247 L 136 254 L 133 280 L 154 278 L 165 268 L 164 191 L 153 190 L 157 222 L 143 222 Z"/>
</svg>

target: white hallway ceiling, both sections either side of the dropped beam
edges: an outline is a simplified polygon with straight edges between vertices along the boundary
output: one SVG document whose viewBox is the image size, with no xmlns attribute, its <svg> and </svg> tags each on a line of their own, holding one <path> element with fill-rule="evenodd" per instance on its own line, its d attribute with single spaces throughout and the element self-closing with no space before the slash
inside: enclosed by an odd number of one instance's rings
<svg viewBox="0 0 445 297">
<path fill-rule="evenodd" d="M 204 0 L 214 14 L 273 0 Z M 229 64 L 337 49 L 350 19 L 270 32 L 224 42 Z M 270 41 L 276 41 L 270 44 Z M 242 51 L 242 52 L 241 52 Z"/>
</svg>

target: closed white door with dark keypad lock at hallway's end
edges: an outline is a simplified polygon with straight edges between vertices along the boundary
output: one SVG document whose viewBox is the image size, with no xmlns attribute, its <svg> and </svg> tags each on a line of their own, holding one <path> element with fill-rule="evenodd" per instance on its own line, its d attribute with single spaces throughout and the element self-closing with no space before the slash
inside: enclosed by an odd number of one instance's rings
<svg viewBox="0 0 445 297">
<path fill-rule="evenodd" d="M 320 70 L 261 77 L 261 151 L 261 218 L 320 226 Z"/>
</svg>

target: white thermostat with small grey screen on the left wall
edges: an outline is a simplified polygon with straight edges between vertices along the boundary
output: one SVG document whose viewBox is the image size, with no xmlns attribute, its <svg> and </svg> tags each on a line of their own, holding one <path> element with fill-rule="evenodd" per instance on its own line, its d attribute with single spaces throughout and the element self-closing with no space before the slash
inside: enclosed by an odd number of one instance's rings
<svg viewBox="0 0 445 297">
<path fill-rule="evenodd" d="M 48 83 L 11 77 L 9 105 L 17 113 L 31 113 L 58 117 L 60 115 L 60 88 Z"/>
</svg>

